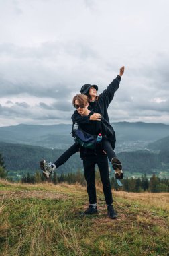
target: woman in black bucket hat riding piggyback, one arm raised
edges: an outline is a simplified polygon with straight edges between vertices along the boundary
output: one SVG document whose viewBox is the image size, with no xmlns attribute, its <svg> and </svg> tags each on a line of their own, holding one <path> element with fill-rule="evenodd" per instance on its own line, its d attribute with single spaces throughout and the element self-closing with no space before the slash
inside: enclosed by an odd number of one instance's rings
<svg viewBox="0 0 169 256">
<path fill-rule="evenodd" d="M 98 86 L 91 84 L 85 84 L 82 86 L 80 92 L 82 94 L 86 94 L 89 98 L 89 109 L 93 110 L 96 113 L 90 116 L 81 116 L 78 111 L 75 111 L 72 115 L 73 123 L 83 124 L 88 123 L 90 121 L 102 121 L 104 123 L 105 134 L 107 136 L 104 137 L 102 141 L 103 150 L 107 153 L 109 161 L 111 162 L 113 169 L 115 170 L 116 179 L 123 179 L 122 165 L 121 162 L 117 159 L 115 152 L 113 151 L 115 148 L 115 131 L 113 127 L 109 124 L 109 116 L 107 113 L 107 108 L 113 100 L 115 91 L 119 88 L 119 82 L 121 81 L 121 76 L 124 73 L 124 67 L 121 67 L 119 75 L 113 82 L 109 84 L 106 90 L 103 91 L 102 94 L 97 96 Z M 54 164 L 47 163 L 46 160 L 42 160 L 40 162 L 40 168 L 43 170 L 44 176 L 48 179 L 50 174 L 54 172 L 56 168 L 64 164 L 76 152 L 79 151 L 78 144 L 74 143 L 66 152 L 64 152 Z"/>
</svg>

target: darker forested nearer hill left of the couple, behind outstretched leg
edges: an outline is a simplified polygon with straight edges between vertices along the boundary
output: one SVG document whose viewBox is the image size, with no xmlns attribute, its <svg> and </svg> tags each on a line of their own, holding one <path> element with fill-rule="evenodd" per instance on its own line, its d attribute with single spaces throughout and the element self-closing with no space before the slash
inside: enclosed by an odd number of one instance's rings
<svg viewBox="0 0 169 256">
<path fill-rule="evenodd" d="M 0 152 L 3 154 L 9 174 L 15 176 L 15 174 L 34 173 L 40 170 L 40 160 L 55 162 L 64 150 L 0 142 Z M 79 168 L 82 169 L 82 160 L 80 154 L 76 153 L 60 166 L 58 173 L 76 172 Z"/>
</svg>

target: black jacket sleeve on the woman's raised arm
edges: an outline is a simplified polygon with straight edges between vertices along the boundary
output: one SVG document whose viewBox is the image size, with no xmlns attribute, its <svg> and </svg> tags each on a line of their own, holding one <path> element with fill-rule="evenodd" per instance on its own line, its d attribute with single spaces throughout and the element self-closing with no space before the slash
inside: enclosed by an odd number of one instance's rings
<svg viewBox="0 0 169 256">
<path fill-rule="evenodd" d="M 115 91 L 119 88 L 119 83 L 121 81 L 121 77 L 117 75 L 115 79 L 107 86 L 107 89 L 105 89 L 100 95 L 99 98 L 105 102 L 105 105 L 108 107 L 111 103 L 111 100 L 113 100 Z"/>
</svg>

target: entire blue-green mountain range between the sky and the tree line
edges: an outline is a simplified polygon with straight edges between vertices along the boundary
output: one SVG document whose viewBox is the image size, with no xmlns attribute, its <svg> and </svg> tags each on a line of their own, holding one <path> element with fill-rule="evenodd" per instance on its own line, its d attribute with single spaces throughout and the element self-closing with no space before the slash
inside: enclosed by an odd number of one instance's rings
<svg viewBox="0 0 169 256">
<path fill-rule="evenodd" d="M 157 173 L 169 176 L 169 125 L 154 123 L 115 123 L 115 151 L 125 175 Z M 0 153 L 9 177 L 40 170 L 41 159 L 54 162 L 74 139 L 71 125 L 15 125 L 0 127 Z M 43 147 L 42 147 L 43 146 Z M 82 170 L 79 153 L 57 170 L 59 174 Z"/>
</svg>

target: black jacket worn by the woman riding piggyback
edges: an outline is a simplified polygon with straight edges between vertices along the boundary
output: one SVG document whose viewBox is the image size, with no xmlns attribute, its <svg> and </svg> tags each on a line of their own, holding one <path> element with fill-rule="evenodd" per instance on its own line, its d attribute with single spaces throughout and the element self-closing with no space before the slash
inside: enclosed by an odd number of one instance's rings
<svg viewBox="0 0 169 256">
<path fill-rule="evenodd" d="M 107 86 L 107 89 L 105 89 L 100 95 L 97 101 L 95 102 L 89 102 L 89 110 L 93 110 L 93 112 L 101 113 L 102 119 L 101 119 L 101 125 L 103 129 L 103 133 L 107 136 L 107 138 L 111 141 L 111 146 L 114 150 L 115 148 L 115 131 L 113 130 L 113 127 L 109 123 L 109 116 L 107 113 L 107 108 L 111 101 L 113 100 L 115 91 L 119 88 L 119 82 L 121 81 L 121 77 L 117 75 L 115 79 Z M 88 123 L 89 124 L 89 117 L 90 116 L 81 116 L 78 114 L 77 111 L 74 111 L 74 114 L 72 115 L 72 121 L 73 123 Z"/>
</svg>

